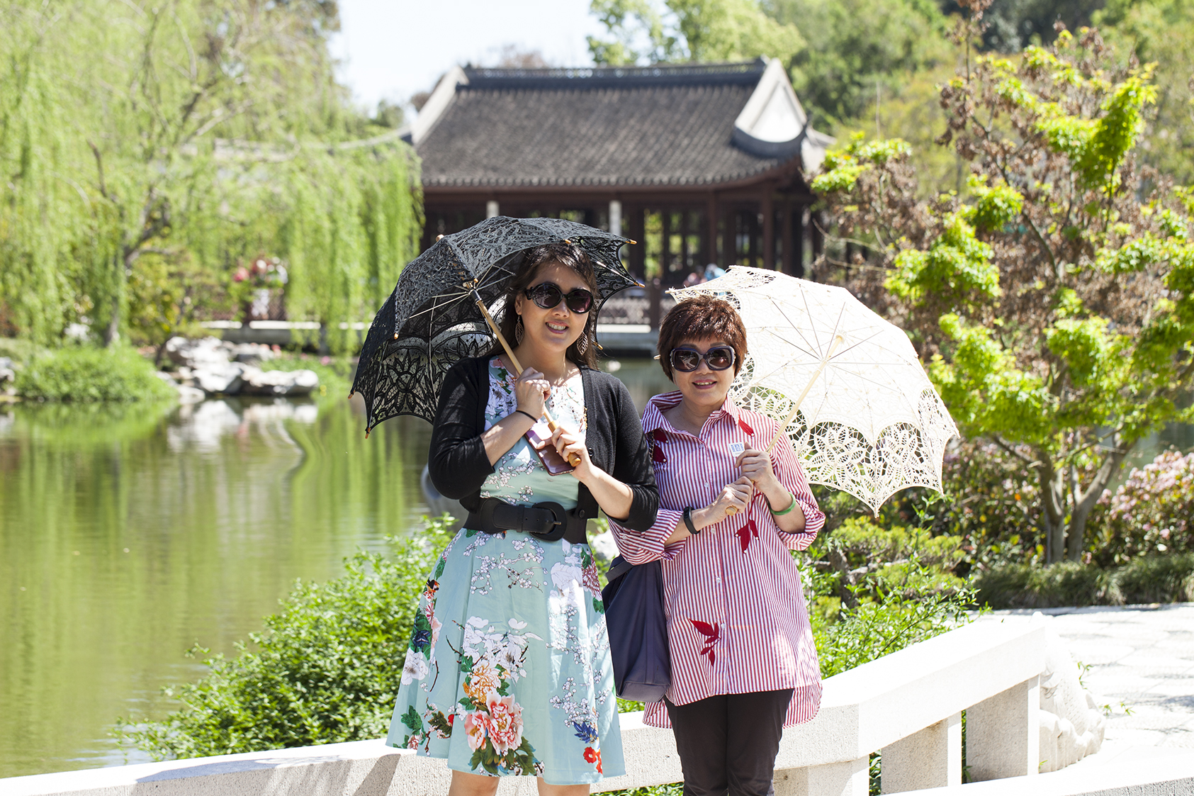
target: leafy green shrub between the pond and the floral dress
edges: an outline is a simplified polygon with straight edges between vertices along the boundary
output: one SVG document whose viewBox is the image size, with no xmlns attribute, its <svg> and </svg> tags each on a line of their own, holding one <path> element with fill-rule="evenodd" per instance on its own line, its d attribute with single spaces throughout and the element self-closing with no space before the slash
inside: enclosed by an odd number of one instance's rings
<svg viewBox="0 0 1194 796">
<path fill-rule="evenodd" d="M 394 541 L 393 558 L 358 552 L 344 576 L 298 582 L 265 631 L 250 633 L 253 649 L 209 657 L 203 679 L 166 690 L 181 710 L 142 727 L 121 721 L 117 735 L 159 760 L 383 736 L 448 522 L 427 520 L 418 538 Z"/>
</svg>

